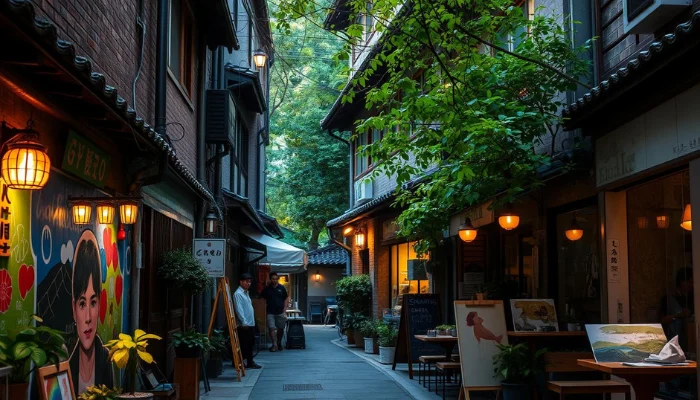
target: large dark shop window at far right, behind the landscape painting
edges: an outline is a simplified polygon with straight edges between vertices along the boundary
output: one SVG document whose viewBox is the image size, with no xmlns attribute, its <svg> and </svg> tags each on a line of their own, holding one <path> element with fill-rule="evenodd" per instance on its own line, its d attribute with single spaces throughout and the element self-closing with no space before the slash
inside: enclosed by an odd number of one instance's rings
<svg viewBox="0 0 700 400">
<path fill-rule="evenodd" d="M 681 227 L 689 187 L 685 171 L 627 191 L 629 311 L 632 323 L 661 323 L 668 339 L 678 335 L 686 355 L 695 358 L 691 232 Z M 695 382 L 676 379 L 659 393 L 691 398 Z"/>
</svg>

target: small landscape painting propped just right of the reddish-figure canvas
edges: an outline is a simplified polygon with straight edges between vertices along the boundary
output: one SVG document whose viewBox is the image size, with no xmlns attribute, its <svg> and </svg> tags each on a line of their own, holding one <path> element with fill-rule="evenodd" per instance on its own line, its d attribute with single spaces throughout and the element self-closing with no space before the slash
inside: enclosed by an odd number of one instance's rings
<svg viewBox="0 0 700 400">
<path fill-rule="evenodd" d="M 510 310 L 517 332 L 558 332 L 557 309 L 552 299 L 512 299 Z"/>
</svg>

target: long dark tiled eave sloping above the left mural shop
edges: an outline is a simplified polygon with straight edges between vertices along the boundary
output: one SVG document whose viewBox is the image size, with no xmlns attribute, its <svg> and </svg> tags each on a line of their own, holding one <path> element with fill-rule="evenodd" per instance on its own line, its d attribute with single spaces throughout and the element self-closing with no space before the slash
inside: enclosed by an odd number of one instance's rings
<svg viewBox="0 0 700 400">
<path fill-rule="evenodd" d="M 58 38 L 58 30 L 53 23 L 36 17 L 31 1 L 0 0 L 0 11 L 12 13 L 15 18 L 11 18 L 11 20 L 18 27 L 35 39 L 49 54 L 55 56 L 55 60 L 58 63 L 77 79 L 80 79 L 93 94 L 112 108 L 136 133 L 164 153 L 170 167 L 187 182 L 190 188 L 211 202 L 216 207 L 219 218 L 223 218 L 214 195 L 180 161 L 175 149 L 162 136 L 156 133 L 143 118 L 136 115 L 136 111 L 129 107 L 126 99 L 117 93 L 117 89 L 107 84 L 103 74 L 92 70 L 92 62 L 89 58 L 76 55 L 73 43 Z"/>
</svg>

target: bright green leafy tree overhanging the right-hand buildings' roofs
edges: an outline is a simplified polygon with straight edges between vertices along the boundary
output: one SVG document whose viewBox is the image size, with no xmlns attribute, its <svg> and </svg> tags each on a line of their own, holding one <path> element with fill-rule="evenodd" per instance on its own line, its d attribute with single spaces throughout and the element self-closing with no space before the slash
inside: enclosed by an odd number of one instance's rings
<svg viewBox="0 0 700 400">
<path fill-rule="evenodd" d="M 381 51 L 355 75 L 355 90 L 343 101 L 364 92 L 366 108 L 376 111 L 357 121 L 356 131 L 384 130 L 365 151 L 384 160 L 375 174 L 396 177 L 399 233 L 421 238 L 419 253 L 439 244 L 452 213 L 495 195 L 501 207 L 540 184 L 537 170 L 551 152 L 542 151 L 543 139 L 561 131 L 561 93 L 588 71 L 580 56 L 587 46 L 574 48 L 563 17 L 529 19 L 513 3 L 371 3 Z M 347 4 L 350 21 L 368 13 L 366 0 Z M 291 24 L 320 6 L 281 0 L 278 16 Z M 346 53 L 362 29 L 353 23 L 336 32 Z"/>
</svg>

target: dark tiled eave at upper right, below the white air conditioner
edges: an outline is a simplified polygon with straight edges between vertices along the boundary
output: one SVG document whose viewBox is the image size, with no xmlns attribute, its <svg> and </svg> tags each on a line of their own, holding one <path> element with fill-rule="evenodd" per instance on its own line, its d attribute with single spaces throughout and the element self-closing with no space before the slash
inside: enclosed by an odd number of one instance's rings
<svg viewBox="0 0 700 400">
<path fill-rule="evenodd" d="M 647 65 L 662 62 L 663 56 L 669 52 L 669 49 L 677 45 L 679 41 L 688 37 L 691 33 L 698 31 L 697 25 L 700 23 L 700 10 L 693 13 L 692 17 L 682 24 L 676 26 L 673 33 L 664 35 L 660 40 L 649 45 L 649 49 L 642 51 L 639 55 L 627 63 L 626 66 L 617 70 L 616 73 L 610 75 L 610 78 L 600 82 L 600 84 L 590 92 L 586 93 L 576 102 L 564 108 L 562 115 L 566 118 L 572 118 L 577 112 L 603 99 L 607 93 L 616 89 L 620 85 L 634 79 L 635 72 Z"/>
</svg>

